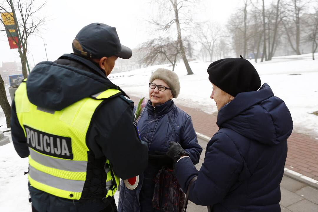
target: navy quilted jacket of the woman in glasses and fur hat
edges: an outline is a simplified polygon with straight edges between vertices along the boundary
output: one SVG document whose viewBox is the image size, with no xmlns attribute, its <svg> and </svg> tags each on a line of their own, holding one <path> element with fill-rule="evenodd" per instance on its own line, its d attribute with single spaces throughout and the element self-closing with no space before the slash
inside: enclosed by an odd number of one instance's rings
<svg viewBox="0 0 318 212">
<path fill-rule="evenodd" d="M 197 134 L 191 117 L 178 108 L 173 100 L 156 107 L 151 104 L 149 100 L 137 124 L 141 140 L 149 144 L 149 154 L 155 154 L 155 151 L 167 152 L 169 143 L 174 141 L 180 143 L 190 154 L 190 163 L 197 164 L 202 148 L 197 143 Z M 129 190 L 121 184 L 119 212 L 154 211 L 153 179 L 161 168 L 148 163 L 146 170 L 139 175 L 139 184 L 134 190 Z"/>
</svg>

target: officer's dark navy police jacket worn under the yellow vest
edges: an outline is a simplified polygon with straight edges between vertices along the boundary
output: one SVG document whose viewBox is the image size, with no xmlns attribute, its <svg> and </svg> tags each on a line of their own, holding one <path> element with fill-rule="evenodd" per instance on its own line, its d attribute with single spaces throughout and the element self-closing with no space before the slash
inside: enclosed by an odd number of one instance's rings
<svg viewBox="0 0 318 212">
<path fill-rule="evenodd" d="M 86 190 L 79 201 L 67 200 L 29 186 L 32 204 L 45 211 L 100 211 L 112 198 L 103 199 L 102 175 L 97 167 L 107 158 L 114 173 L 128 179 L 143 172 L 148 162 L 147 144 L 139 139 L 133 114 L 134 103 L 92 62 L 65 54 L 55 62 L 37 64 L 27 80 L 27 95 L 36 106 L 59 111 L 80 99 L 115 88 L 119 95 L 104 100 L 95 110 L 86 135 L 89 148 Z M 20 157 L 28 157 L 24 131 L 12 101 L 11 131 Z M 104 171 L 105 172 L 105 171 Z M 89 183 L 88 183 L 89 182 Z M 108 200 L 107 200 L 108 199 Z"/>
</svg>

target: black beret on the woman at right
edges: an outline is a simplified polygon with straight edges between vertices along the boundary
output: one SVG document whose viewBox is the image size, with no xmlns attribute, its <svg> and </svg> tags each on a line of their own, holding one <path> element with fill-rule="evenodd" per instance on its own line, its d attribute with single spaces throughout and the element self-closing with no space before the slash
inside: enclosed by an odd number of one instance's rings
<svg viewBox="0 0 318 212">
<path fill-rule="evenodd" d="M 220 59 L 208 67 L 210 82 L 232 96 L 241 92 L 257 91 L 261 85 L 254 66 L 240 57 Z"/>
</svg>

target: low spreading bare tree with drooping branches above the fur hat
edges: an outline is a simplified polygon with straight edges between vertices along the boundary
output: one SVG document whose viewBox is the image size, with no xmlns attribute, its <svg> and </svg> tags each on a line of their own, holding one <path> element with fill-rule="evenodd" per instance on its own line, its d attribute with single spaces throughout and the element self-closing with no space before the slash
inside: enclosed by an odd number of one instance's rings
<svg viewBox="0 0 318 212">
<path fill-rule="evenodd" d="M 172 71 L 175 70 L 180 46 L 178 41 L 169 38 L 152 39 L 142 44 L 142 51 L 145 56 L 141 62 L 145 65 L 154 65 L 156 63 L 169 62 L 172 65 Z"/>
</svg>

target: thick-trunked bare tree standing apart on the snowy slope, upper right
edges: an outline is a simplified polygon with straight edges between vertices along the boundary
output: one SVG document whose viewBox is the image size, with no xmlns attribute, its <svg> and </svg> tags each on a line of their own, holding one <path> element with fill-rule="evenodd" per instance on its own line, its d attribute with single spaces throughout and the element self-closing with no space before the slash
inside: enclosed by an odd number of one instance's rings
<svg viewBox="0 0 318 212">
<path fill-rule="evenodd" d="M 288 42 L 297 55 L 301 54 L 299 48 L 301 32 L 300 17 L 306 12 L 308 3 L 309 2 L 305 0 L 290 0 L 290 2 L 287 3 L 287 19 L 283 22 L 283 25 Z"/>
</svg>

